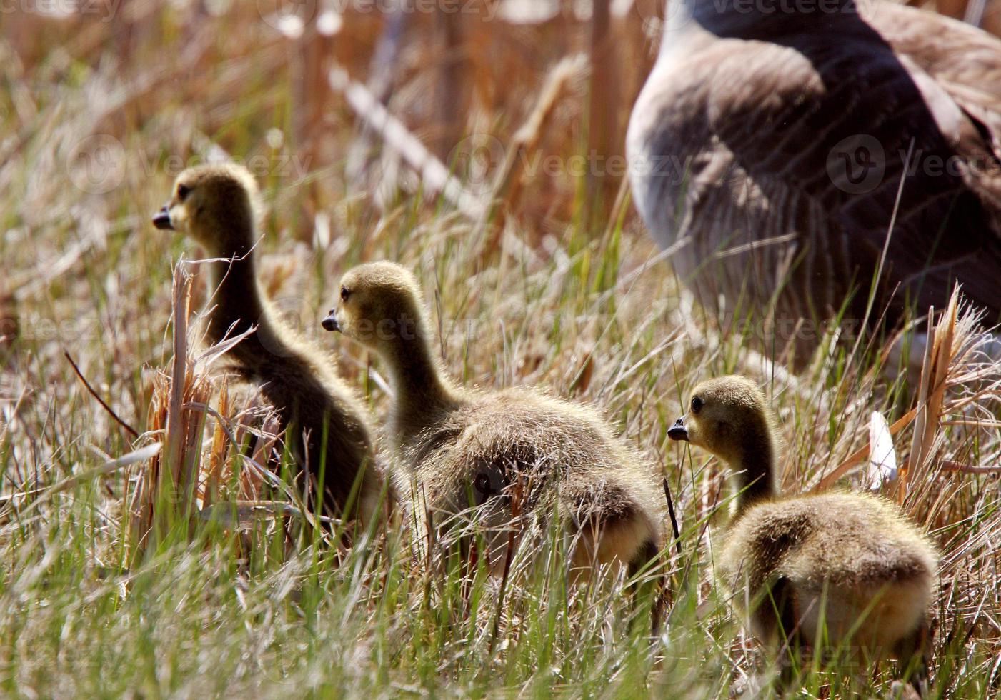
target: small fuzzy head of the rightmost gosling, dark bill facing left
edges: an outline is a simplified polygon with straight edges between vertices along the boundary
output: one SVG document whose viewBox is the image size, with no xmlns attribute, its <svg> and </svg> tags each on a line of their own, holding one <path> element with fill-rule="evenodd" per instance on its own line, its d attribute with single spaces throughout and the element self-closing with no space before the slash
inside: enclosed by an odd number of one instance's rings
<svg viewBox="0 0 1001 700">
<path fill-rule="evenodd" d="M 770 416 L 764 394 L 747 377 L 709 379 L 692 392 L 688 413 L 675 421 L 668 437 L 737 463 L 749 448 L 771 449 Z"/>
</svg>

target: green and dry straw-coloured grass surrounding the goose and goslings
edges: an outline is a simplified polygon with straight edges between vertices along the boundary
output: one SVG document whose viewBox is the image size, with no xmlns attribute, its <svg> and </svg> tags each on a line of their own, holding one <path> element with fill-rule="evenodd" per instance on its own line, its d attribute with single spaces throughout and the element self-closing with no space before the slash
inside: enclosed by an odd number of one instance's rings
<svg viewBox="0 0 1001 700">
<path fill-rule="evenodd" d="M 587 82 L 576 59 L 558 67 L 588 46 L 587 23 L 572 13 L 539 25 L 464 23 L 471 68 L 460 113 L 470 143 L 487 146 L 485 165 L 468 149 L 433 145 L 433 16 L 406 18 L 387 90 L 366 78 L 378 73 L 374 46 L 392 40 L 384 18 L 345 14 L 332 38 L 314 31 L 317 19 L 296 37 L 250 3 L 132 3 L 108 23 L 3 17 L 0 693 L 728 697 L 761 660 L 712 584 L 723 470 L 670 443 L 667 429 L 699 379 L 741 371 L 768 386 L 790 491 L 839 465 L 840 483 L 862 487 L 872 412 L 900 423 L 898 460 L 921 466 L 887 493 L 944 555 L 934 693 L 997 694 L 1001 513 L 991 468 L 1001 430 L 996 368 L 976 354 L 976 338 L 961 334 L 938 356 L 945 372 L 929 375 L 924 396 L 941 387 L 939 408 L 916 434 L 908 411 L 921 378 L 899 371 L 889 345 L 826 343 L 793 375 L 721 333 L 625 191 L 601 225 L 584 215 L 586 173 L 566 164 L 588 143 L 578 127 Z M 643 17 L 613 19 L 624 117 L 652 47 Z M 336 61 L 385 99 L 459 186 L 496 195 L 491 216 L 428 191 L 335 86 L 321 125 L 304 128 L 295 66 L 320 59 L 303 56 Z M 547 75 L 551 90 L 537 98 Z M 535 171 L 518 149 L 564 166 Z M 340 273 L 389 258 L 428 290 L 454 376 L 595 402 L 660 465 L 678 537 L 657 566 L 637 580 L 571 586 L 553 537 L 541 565 L 516 558 L 502 582 L 421 551 L 398 520 L 349 549 L 318 539 L 287 474 L 257 469 L 281 460 L 266 407 L 201 343 L 203 276 L 196 263 L 176 265 L 197 251 L 148 223 L 179 167 L 172 159 L 218 151 L 252 167 L 261 158 L 264 286 L 289 321 L 330 346 L 376 414 L 386 405 L 377 361 L 319 337 L 318 320 Z M 653 601 L 642 591 L 661 581 L 666 609 L 651 640 Z M 802 694 L 891 691 L 889 665 L 853 663 L 814 669 Z"/>
</svg>

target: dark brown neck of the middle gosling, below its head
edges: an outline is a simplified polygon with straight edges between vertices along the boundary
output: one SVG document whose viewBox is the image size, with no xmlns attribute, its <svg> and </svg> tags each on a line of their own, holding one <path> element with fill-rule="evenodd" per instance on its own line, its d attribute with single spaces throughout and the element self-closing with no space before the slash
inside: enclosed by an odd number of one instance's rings
<svg viewBox="0 0 1001 700">
<path fill-rule="evenodd" d="M 395 419 L 404 433 L 416 433 L 433 421 L 435 409 L 454 405 L 457 392 L 434 355 L 424 319 L 401 326 L 381 354 L 396 395 Z"/>
</svg>

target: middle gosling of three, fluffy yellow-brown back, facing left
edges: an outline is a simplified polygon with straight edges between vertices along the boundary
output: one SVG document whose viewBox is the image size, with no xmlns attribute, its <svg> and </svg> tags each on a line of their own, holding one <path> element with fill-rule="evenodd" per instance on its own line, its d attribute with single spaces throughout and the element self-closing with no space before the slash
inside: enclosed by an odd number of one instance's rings
<svg viewBox="0 0 1001 700">
<path fill-rule="evenodd" d="M 653 467 L 590 408 L 514 388 L 462 389 L 431 349 L 430 324 L 413 275 L 388 262 L 349 270 L 340 303 L 323 321 L 377 352 L 394 397 L 386 438 L 396 492 L 418 494 L 440 518 L 468 509 L 490 533 L 493 571 L 504 557 L 513 503 L 555 499 L 573 545 L 571 565 L 645 564 L 659 549 L 663 496 Z"/>
</svg>

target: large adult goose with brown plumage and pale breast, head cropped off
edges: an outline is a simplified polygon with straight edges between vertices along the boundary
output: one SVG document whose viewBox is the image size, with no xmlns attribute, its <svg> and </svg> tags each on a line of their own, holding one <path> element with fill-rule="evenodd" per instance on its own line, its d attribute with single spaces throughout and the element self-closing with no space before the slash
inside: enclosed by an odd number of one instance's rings
<svg viewBox="0 0 1001 700">
<path fill-rule="evenodd" d="M 776 336 L 809 350 L 849 296 L 859 328 L 874 279 L 870 321 L 942 308 L 954 281 L 1001 318 L 1001 41 L 890 2 L 667 14 L 627 150 L 637 208 L 704 306 L 775 298 Z"/>
</svg>

